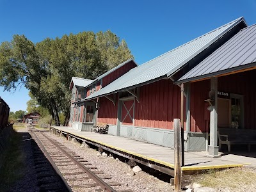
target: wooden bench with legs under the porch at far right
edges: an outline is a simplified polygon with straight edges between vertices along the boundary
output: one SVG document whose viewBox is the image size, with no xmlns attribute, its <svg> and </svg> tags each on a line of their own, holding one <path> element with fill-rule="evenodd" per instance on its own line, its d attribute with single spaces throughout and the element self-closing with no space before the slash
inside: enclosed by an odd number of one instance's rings
<svg viewBox="0 0 256 192">
<path fill-rule="evenodd" d="M 251 145 L 256 145 L 256 131 L 252 129 L 230 129 L 218 128 L 219 146 L 228 146 L 228 152 L 231 150 L 231 145 L 247 145 L 248 152 L 251 150 Z"/>
</svg>

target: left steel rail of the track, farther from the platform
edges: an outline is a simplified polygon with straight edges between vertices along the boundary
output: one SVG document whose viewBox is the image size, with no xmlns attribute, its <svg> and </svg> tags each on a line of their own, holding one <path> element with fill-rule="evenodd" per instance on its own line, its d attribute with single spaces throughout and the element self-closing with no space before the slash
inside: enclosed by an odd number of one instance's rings
<svg viewBox="0 0 256 192">
<path fill-rule="evenodd" d="M 44 152 L 46 158 L 48 159 L 49 163 L 51 163 L 52 167 L 54 168 L 54 170 L 56 171 L 56 173 L 58 174 L 58 176 L 60 177 L 60 179 L 63 181 L 63 184 L 65 186 L 65 188 L 67 188 L 68 191 L 72 192 L 72 189 L 70 188 L 70 186 L 68 185 L 67 181 L 65 180 L 65 178 L 63 177 L 63 175 L 61 174 L 60 170 L 58 169 L 58 167 L 56 166 L 56 164 L 54 163 L 54 161 L 52 160 L 52 157 L 49 155 L 49 153 L 47 152 L 47 150 L 45 149 L 43 143 L 40 141 L 40 139 L 38 138 L 38 136 L 36 136 L 34 131 L 33 132 L 36 141 L 38 141 L 38 144 L 40 145 L 40 147 L 42 147 L 42 152 Z"/>
</svg>

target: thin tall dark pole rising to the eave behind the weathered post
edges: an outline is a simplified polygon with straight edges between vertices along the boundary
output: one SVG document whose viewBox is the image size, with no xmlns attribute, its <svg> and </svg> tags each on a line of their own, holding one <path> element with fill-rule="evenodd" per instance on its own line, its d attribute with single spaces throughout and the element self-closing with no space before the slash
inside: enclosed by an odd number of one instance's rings
<svg viewBox="0 0 256 192">
<path fill-rule="evenodd" d="M 182 83 L 180 85 L 180 122 L 181 122 L 181 166 L 185 165 L 185 160 L 184 160 L 184 118 L 183 118 L 183 113 L 184 113 L 184 84 Z"/>
</svg>

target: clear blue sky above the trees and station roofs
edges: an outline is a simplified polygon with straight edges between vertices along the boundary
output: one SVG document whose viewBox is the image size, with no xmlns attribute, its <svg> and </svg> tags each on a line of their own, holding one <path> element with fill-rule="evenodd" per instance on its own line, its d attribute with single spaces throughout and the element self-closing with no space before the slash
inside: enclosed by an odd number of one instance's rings
<svg viewBox="0 0 256 192">
<path fill-rule="evenodd" d="M 125 39 L 138 64 L 243 16 L 256 23 L 256 0 L 236 1 L 11 1 L 0 0 L 0 43 L 24 34 L 33 42 L 81 31 Z M 13 90 L 14 91 L 14 90 Z M 3 92 L 11 111 L 26 111 L 28 90 Z"/>
</svg>

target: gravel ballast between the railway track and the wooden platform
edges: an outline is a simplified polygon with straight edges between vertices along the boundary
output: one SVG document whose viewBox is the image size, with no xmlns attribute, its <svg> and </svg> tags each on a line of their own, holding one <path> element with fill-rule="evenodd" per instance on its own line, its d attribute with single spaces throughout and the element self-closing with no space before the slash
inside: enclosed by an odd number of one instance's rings
<svg viewBox="0 0 256 192">
<path fill-rule="evenodd" d="M 72 152 L 76 152 L 79 156 L 83 157 L 92 163 L 92 166 L 96 166 L 98 170 L 103 171 L 104 175 L 111 176 L 111 181 L 119 182 L 122 186 L 113 186 L 116 190 L 127 190 L 132 191 L 173 191 L 173 186 L 170 183 L 163 182 L 156 177 L 149 175 L 145 172 L 138 172 L 134 174 L 132 168 L 122 161 L 116 161 L 113 157 L 99 156 L 99 152 L 92 148 L 81 147 L 79 143 L 67 141 L 65 138 L 61 138 L 55 135 L 47 133 L 47 136 L 60 142 Z M 103 176 L 103 175 L 102 175 Z M 108 180 L 106 180 L 108 181 Z M 82 183 L 82 182 L 81 182 Z M 125 187 L 125 188 L 124 188 Z M 90 189 L 92 190 L 92 189 Z M 82 188 L 77 189 L 82 191 Z M 84 189 L 83 189 L 84 191 Z M 86 190 L 85 190 L 86 191 Z"/>
</svg>

